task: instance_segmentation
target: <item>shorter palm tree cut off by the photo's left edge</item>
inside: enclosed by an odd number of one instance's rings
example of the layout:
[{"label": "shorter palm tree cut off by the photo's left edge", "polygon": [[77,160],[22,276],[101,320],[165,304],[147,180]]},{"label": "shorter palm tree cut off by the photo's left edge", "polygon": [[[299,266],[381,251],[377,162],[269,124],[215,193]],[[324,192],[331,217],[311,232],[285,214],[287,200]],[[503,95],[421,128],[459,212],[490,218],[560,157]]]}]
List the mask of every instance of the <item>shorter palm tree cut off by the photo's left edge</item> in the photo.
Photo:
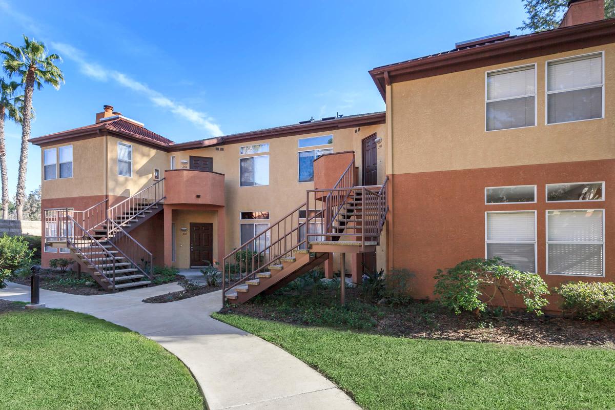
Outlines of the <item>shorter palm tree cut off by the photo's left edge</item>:
[{"label": "shorter palm tree cut off by the photo's left edge", "polygon": [[10,119],[20,124],[22,96],[15,96],[20,84],[6,82],[0,78],[0,176],[2,179],[2,219],[9,219],[9,181],[6,174],[6,146],[4,145],[4,120]]}]

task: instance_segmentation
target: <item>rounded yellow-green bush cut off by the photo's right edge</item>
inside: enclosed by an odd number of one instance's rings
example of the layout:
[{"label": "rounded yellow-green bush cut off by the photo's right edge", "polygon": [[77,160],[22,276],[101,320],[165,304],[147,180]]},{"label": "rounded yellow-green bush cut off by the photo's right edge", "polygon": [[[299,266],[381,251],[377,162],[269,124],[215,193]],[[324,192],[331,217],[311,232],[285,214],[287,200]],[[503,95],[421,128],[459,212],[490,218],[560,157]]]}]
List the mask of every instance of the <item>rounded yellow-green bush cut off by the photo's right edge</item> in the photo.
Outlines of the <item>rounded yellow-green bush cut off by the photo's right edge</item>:
[{"label": "rounded yellow-green bush cut off by the photo's right edge", "polygon": [[569,282],[554,288],[561,310],[583,320],[615,320],[615,283]]}]

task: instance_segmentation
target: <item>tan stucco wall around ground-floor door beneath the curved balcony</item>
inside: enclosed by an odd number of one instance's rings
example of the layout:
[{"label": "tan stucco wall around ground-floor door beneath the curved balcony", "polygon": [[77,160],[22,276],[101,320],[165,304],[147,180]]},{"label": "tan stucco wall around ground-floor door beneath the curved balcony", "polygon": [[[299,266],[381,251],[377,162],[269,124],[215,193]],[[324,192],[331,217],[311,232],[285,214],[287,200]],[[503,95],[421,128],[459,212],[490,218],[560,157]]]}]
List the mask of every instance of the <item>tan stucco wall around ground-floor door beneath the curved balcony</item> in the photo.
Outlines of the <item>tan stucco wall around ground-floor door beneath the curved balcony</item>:
[{"label": "tan stucco wall around ground-floor door beneath the curved balcony", "polygon": [[[175,262],[173,266],[179,269],[188,269],[190,266],[190,223],[213,223],[213,258],[218,256],[218,215],[216,211],[173,210],[173,223],[175,223]],[[187,231],[181,231],[181,228]]]}]

